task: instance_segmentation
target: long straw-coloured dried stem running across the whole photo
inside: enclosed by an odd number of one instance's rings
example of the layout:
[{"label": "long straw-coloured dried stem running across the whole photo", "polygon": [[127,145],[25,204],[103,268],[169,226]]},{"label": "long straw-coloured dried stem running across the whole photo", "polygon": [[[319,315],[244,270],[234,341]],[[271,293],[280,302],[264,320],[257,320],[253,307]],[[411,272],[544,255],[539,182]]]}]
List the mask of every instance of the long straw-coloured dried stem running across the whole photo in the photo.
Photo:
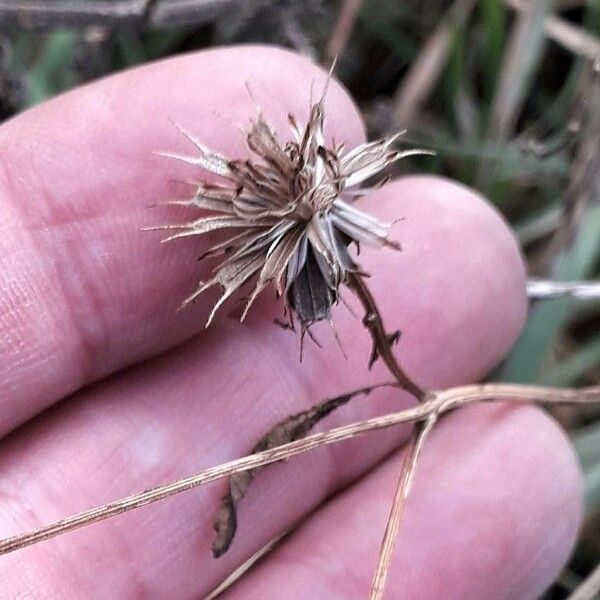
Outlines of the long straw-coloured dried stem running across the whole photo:
[{"label": "long straw-coloured dried stem running across the whole photo", "polygon": [[444,412],[471,404],[492,400],[509,402],[541,402],[541,403],[600,403],[600,386],[576,389],[554,389],[517,384],[483,384],[468,385],[441,392],[431,392],[421,403],[406,410],[388,415],[359,421],[343,427],[337,427],[324,433],[317,433],[289,444],[283,444],[258,454],[245,456],[228,463],[211,467],[200,473],[178,481],[157,486],[150,490],[116,500],[101,507],[67,517],[50,525],[45,525],[24,534],[16,535],[0,541],[0,554],[7,554],[37,542],[53,538],[108,519],[110,517],[135,510],[141,506],[164,500],[200,485],[205,485],[234,473],[256,469],[291,456],[307,452],[326,444],[334,444],[353,438],[367,431],[375,431],[400,425],[401,423],[420,422],[429,418],[432,413],[441,415]]}]

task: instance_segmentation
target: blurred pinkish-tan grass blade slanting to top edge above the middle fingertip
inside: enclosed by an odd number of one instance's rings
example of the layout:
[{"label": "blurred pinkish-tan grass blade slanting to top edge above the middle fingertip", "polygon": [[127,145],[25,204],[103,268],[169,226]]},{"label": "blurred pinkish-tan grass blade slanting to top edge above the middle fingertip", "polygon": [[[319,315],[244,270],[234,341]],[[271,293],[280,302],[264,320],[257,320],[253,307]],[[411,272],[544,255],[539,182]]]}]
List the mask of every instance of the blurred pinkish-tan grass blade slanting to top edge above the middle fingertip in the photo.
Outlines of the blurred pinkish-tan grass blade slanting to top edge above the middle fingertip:
[{"label": "blurred pinkish-tan grass blade slanting to top edge above the middle fingertip", "polygon": [[394,94],[395,126],[409,123],[432,92],[448,59],[453,33],[466,22],[474,6],[474,0],[456,0],[425,43]]}]

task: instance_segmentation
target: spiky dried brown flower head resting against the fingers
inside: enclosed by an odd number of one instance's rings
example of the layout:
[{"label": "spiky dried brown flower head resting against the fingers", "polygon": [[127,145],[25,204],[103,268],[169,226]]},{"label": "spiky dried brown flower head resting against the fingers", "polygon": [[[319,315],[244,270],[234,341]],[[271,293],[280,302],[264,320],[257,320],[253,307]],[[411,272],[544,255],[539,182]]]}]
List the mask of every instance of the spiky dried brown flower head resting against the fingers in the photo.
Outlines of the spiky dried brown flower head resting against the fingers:
[{"label": "spiky dried brown flower head resting against the fingers", "polygon": [[288,116],[292,141],[285,144],[259,113],[247,134],[247,160],[217,154],[181,128],[198,156],[163,154],[223,179],[219,184],[199,184],[191,200],[175,202],[208,210],[209,216],[166,227],[179,230],[167,240],[216,230],[228,234],[203,255],[223,257],[213,276],[186,300],[217,284],[223,288],[207,327],[223,302],[254,279],[241,320],[258,294],[273,285],[284,296],[290,316],[295,313],[305,331],[317,321],[330,319],[347,274],[361,272],[349,250],[352,242],[357,247],[400,248],[388,237],[390,224],[353,204],[365,193],[361,185],[366,180],[396,160],[421,151],[398,152],[393,148],[397,135],[349,151],[343,145],[328,148],[324,99],[325,92],[311,105],[304,127]]}]

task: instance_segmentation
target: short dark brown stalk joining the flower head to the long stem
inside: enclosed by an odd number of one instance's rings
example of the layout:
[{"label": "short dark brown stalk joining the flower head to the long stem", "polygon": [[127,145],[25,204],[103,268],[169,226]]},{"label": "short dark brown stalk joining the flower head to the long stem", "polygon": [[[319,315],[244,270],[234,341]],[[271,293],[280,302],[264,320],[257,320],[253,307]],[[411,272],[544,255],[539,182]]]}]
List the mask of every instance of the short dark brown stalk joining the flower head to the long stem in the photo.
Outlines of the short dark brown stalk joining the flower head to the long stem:
[{"label": "short dark brown stalk joining the flower head to the long stem", "polygon": [[386,332],[377,303],[361,275],[351,273],[348,277],[348,286],[356,294],[356,297],[365,309],[363,323],[369,330],[371,339],[373,340],[373,352],[369,360],[369,367],[372,366],[377,358],[381,357],[381,360],[386,364],[400,386],[417,398],[417,400],[423,401],[427,392],[404,372],[392,352],[392,345],[399,339],[400,332]]}]

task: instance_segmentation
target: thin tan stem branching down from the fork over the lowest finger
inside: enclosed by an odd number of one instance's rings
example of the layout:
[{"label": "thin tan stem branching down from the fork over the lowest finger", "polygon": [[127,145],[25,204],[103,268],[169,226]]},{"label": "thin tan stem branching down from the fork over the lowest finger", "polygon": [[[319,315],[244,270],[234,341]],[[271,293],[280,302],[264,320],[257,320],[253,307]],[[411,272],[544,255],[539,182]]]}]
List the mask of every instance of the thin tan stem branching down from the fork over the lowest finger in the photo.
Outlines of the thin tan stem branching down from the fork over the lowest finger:
[{"label": "thin tan stem branching down from the fork over the lowest finger", "polygon": [[385,527],[383,541],[381,542],[379,560],[377,562],[377,568],[371,585],[371,593],[369,595],[370,600],[382,600],[383,598],[385,581],[390,570],[392,553],[394,551],[396,539],[398,538],[398,531],[402,524],[402,518],[404,517],[406,501],[410,493],[417,461],[419,460],[419,455],[425,444],[425,439],[433,429],[437,419],[437,413],[433,412],[427,417],[426,421],[419,423],[417,429],[413,432],[406,449],[406,456],[402,462],[402,470],[400,472],[400,478],[398,479],[396,493],[394,494],[390,516]]}]

